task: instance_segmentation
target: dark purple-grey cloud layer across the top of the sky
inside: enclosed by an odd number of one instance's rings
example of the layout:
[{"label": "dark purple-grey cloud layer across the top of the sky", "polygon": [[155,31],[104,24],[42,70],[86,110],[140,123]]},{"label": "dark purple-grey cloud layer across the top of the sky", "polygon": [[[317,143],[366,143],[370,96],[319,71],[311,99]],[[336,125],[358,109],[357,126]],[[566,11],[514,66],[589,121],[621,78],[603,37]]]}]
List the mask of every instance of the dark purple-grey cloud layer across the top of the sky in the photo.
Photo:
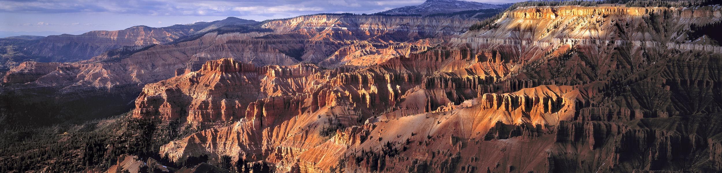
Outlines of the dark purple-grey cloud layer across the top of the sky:
[{"label": "dark purple-grey cloud layer across the top of the sky", "polygon": [[[503,3],[503,1],[495,0],[481,2]],[[321,12],[372,13],[421,3],[423,3],[423,0],[0,0],[0,12],[43,14],[108,12],[165,16],[292,16]]]}]

